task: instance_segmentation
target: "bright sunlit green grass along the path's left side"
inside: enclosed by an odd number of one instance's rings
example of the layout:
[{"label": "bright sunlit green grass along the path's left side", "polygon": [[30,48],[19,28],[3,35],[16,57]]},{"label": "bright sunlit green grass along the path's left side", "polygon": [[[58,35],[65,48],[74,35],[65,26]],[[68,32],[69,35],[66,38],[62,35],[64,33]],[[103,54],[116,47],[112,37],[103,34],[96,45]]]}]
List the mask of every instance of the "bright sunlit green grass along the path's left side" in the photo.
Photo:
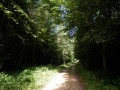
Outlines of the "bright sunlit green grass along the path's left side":
[{"label": "bright sunlit green grass along the path's left side", "polygon": [[0,73],[0,90],[40,90],[57,73],[52,66],[32,67],[22,72]]}]

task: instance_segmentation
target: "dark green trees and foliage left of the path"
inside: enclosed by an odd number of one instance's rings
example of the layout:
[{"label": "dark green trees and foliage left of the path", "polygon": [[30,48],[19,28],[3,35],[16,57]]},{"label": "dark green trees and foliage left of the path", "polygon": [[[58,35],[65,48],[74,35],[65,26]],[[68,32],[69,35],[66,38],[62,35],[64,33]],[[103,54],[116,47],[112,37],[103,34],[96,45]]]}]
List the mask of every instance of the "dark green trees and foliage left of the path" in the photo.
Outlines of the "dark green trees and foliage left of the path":
[{"label": "dark green trees and foliage left of the path", "polygon": [[51,17],[50,10],[54,6],[44,0],[0,3],[0,67],[3,70],[63,62],[52,31],[54,16]]}]

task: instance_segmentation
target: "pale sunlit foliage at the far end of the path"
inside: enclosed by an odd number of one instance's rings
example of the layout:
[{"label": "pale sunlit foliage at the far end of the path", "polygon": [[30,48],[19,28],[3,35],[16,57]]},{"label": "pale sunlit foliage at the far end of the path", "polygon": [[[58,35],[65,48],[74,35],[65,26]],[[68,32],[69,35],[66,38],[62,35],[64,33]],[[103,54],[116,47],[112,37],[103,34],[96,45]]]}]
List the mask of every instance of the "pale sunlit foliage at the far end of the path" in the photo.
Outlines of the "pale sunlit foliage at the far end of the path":
[{"label": "pale sunlit foliage at the far end of the path", "polygon": [[57,26],[57,44],[58,47],[62,50],[64,64],[74,61],[74,39],[69,38],[68,32],[64,31],[65,26],[60,24]]}]

